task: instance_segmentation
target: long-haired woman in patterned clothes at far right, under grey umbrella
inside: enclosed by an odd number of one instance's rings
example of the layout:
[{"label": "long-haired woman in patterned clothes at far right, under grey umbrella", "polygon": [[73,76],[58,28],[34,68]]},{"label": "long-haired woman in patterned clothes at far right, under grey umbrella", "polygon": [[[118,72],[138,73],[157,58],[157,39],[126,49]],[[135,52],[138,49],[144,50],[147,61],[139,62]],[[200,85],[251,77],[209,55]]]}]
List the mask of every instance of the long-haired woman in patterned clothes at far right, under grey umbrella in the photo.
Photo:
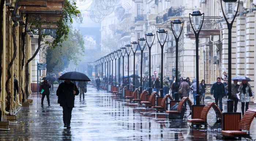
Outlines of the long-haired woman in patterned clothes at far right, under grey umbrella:
[{"label": "long-haired woman in patterned clothes at far right, under grey umbrella", "polygon": [[242,80],[238,88],[238,94],[240,95],[240,102],[241,102],[241,111],[242,115],[244,115],[244,105],[245,111],[249,108],[250,97],[254,98],[254,92],[252,91],[251,85],[248,83],[247,80]]}]

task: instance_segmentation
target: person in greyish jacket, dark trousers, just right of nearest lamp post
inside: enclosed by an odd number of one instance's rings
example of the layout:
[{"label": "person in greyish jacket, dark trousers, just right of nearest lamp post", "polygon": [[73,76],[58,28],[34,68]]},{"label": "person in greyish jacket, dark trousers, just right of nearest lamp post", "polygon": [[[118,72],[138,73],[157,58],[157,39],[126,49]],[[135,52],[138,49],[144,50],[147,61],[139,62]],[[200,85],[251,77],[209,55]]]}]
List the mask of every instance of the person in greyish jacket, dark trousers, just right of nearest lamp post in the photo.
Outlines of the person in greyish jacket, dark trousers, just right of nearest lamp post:
[{"label": "person in greyish jacket, dark trousers, just right of nearest lamp post", "polygon": [[[240,86],[239,84],[237,84],[237,82],[237,79],[233,80],[233,83],[231,84],[231,95],[228,97],[229,99],[232,99],[234,101],[234,112],[237,112],[238,99],[236,94],[238,94],[238,88]],[[228,85],[226,85],[225,89],[228,91]]]}]

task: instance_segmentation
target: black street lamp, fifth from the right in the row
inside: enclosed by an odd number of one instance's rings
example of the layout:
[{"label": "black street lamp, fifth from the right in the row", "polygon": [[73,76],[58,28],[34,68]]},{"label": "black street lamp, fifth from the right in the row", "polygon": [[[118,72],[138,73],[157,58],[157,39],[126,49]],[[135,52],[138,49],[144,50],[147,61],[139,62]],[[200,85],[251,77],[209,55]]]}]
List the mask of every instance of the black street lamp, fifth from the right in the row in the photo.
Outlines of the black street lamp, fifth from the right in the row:
[{"label": "black street lamp, fifth from the right in the row", "polygon": [[[154,38],[153,38],[154,37]],[[155,34],[153,33],[148,33],[146,34],[146,42],[147,42],[147,46],[148,46],[148,79],[149,79],[149,84],[148,84],[148,94],[151,94],[152,92],[152,88],[151,88],[151,47],[153,45],[153,42],[155,40]]]}]

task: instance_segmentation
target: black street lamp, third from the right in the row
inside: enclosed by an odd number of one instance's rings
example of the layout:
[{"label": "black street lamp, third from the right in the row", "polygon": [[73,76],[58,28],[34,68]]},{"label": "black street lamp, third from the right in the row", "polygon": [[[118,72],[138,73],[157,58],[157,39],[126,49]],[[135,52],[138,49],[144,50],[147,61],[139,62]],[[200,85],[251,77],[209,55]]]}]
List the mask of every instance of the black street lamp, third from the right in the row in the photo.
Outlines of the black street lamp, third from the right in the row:
[{"label": "black street lamp, third from the right in the row", "polygon": [[[182,26],[181,26],[181,24],[182,24]],[[176,47],[175,47],[176,48],[176,69],[175,69],[176,80],[178,80],[178,41],[179,41],[182,29],[183,29],[183,25],[184,25],[184,22],[181,22],[179,19],[176,19],[173,22],[171,22],[173,35],[174,35],[175,42],[176,42]],[[178,83],[175,83],[175,84],[176,84],[176,88],[177,88]],[[174,98],[175,98],[175,100],[179,99],[178,92],[174,93]]]}]

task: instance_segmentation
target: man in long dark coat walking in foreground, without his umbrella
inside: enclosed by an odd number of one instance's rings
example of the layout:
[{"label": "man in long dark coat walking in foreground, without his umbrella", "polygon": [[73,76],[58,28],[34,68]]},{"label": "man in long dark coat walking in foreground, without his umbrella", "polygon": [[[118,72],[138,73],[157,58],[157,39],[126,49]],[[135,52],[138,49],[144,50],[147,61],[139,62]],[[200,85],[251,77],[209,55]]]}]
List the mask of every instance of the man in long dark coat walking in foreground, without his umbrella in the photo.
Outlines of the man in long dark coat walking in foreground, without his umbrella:
[{"label": "man in long dark coat walking in foreground, without his umbrella", "polygon": [[64,127],[70,129],[71,113],[75,103],[75,95],[79,94],[78,88],[66,79],[57,89],[58,103],[63,108]]}]

